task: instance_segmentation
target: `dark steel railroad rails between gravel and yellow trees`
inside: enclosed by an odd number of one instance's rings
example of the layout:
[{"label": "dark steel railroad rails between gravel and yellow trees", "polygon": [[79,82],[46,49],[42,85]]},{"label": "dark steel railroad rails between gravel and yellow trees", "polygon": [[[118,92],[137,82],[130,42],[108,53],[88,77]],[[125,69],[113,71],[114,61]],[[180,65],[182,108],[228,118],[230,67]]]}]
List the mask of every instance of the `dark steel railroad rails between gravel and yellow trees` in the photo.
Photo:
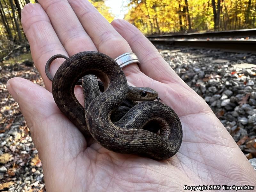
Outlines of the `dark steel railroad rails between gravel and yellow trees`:
[{"label": "dark steel railroad rails between gravel and yellow trees", "polygon": [[[154,35],[148,36],[148,39],[153,44],[221,49],[229,52],[251,52],[252,54],[256,54],[256,38],[246,39],[246,37],[254,36],[256,36],[256,29]],[[238,40],[232,39],[234,37],[239,38]]]}]

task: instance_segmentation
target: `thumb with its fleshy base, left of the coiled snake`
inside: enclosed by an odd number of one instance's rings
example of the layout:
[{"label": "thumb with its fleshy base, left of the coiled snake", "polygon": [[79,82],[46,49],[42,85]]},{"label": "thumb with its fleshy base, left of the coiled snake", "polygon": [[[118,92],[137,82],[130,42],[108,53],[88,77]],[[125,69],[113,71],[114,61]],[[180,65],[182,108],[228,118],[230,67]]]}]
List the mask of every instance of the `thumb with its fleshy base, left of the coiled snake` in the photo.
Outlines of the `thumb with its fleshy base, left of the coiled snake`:
[{"label": "thumb with its fleshy base, left of the coiled snake", "polygon": [[83,135],[60,112],[50,92],[19,77],[10,79],[6,86],[19,103],[43,166],[55,170],[53,165],[60,167],[58,164],[68,160],[67,156],[75,158],[84,150]]}]

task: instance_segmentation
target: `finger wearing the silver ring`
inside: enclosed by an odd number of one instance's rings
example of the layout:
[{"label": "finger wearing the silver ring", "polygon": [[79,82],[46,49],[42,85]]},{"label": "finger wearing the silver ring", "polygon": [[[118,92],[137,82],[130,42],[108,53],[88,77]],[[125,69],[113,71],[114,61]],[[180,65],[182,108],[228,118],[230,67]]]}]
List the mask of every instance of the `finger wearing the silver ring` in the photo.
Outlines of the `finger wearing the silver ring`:
[{"label": "finger wearing the silver ring", "polygon": [[[131,52],[127,41],[109,24],[109,22],[84,0],[68,0],[85,31],[91,37],[99,52],[105,53],[115,59],[119,55]],[[136,64],[124,68],[124,72],[139,73]]]}]

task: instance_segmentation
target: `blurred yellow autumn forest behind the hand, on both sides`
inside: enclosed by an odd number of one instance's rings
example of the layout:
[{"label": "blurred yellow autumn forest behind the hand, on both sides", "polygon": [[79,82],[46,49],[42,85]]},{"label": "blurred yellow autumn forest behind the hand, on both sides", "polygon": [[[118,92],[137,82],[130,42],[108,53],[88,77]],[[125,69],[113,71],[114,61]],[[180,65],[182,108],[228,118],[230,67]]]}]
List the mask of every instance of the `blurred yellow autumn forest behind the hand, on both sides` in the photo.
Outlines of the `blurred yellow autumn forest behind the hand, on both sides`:
[{"label": "blurred yellow autumn forest behind the hand, on both sides", "polygon": [[[256,24],[256,0],[121,1],[126,12],[124,19],[145,35],[244,29]],[[14,50],[29,48],[20,19],[22,8],[30,2],[35,0],[0,0],[0,62]],[[115,19],[106,5],[108,0],[90,2],[109,22]]]}]

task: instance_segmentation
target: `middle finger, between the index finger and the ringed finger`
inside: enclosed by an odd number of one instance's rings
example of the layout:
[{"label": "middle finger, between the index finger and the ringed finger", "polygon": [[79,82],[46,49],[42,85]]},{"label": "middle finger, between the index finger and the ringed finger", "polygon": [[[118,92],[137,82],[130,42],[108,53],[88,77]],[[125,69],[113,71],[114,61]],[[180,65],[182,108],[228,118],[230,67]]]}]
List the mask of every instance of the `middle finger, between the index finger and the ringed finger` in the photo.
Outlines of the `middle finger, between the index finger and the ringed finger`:
[{"label": "middle finger, between the index finger and the ringed finger", "polygon": [[97,51],[67,0],[39,0],[68,54]]}]

